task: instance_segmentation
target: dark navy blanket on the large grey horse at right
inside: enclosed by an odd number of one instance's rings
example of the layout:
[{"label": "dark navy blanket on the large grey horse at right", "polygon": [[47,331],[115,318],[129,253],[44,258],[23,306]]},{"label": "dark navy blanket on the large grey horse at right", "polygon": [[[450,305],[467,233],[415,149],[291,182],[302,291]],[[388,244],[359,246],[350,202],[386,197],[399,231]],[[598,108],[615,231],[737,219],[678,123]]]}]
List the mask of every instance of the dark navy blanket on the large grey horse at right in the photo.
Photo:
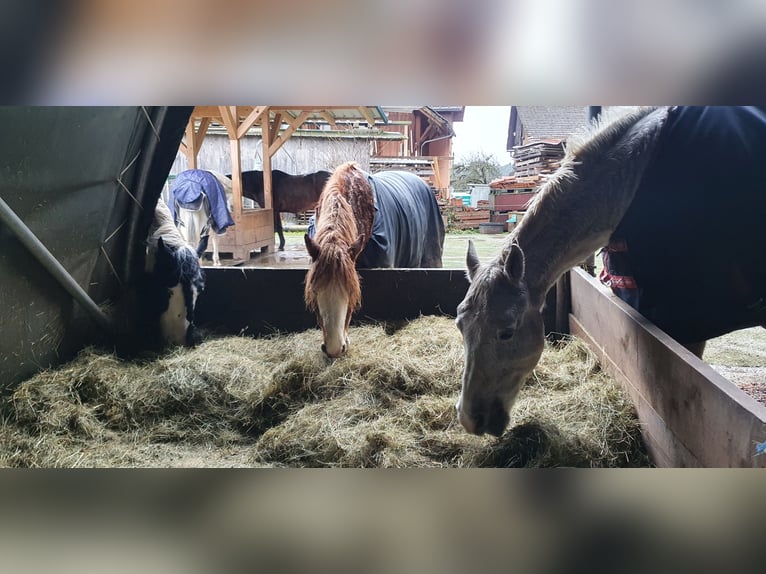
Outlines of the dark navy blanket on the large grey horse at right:
[{"label": "dark navy blanket on the large grey horse at right", "polygon": [[766,109],[675,107],[601,280],[681,343],[766,324]]}]

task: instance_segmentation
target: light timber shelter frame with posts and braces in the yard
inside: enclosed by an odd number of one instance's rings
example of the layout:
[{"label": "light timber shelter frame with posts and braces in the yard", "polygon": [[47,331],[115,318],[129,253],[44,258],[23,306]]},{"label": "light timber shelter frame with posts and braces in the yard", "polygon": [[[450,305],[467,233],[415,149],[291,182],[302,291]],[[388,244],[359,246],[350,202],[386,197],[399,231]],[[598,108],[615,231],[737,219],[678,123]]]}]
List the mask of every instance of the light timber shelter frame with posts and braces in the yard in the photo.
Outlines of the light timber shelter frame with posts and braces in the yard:
[{"label": "light timber shelter frame with posts and braces in the yard", "polygon": [[[181,150],[189,169],[197,169],[197,156],[212,122],[226,128],[231,146],[232,219],[234,226],[219,238],[219,249],[234,259],[249,259],[253,251],[274,250],[274,216],[271,196],[271,158],[305,122],[321,119],[335,127],[340,121],[387,123],[379,106],[197,106],[186,127]],[[242,205],[240,140],[254,126],[261,128],[265,205],[246,209]]]}]

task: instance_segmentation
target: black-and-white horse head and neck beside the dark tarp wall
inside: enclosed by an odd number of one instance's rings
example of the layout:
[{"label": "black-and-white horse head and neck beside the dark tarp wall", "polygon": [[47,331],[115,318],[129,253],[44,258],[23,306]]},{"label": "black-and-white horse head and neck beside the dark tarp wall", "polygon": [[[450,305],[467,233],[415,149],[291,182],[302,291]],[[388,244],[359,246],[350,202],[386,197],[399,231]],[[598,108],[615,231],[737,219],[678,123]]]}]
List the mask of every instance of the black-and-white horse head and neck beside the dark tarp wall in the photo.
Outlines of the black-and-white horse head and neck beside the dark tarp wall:
[{"label": "black-and-white horse head and neck beside the dark tarp wall", "polygon": [[146,273],[139,293],[145,333],[152,338],[158,334],[158,346],[193,345],[194,307],[205,287],[201,253],[186,243],[162,200],[146,243]]}]

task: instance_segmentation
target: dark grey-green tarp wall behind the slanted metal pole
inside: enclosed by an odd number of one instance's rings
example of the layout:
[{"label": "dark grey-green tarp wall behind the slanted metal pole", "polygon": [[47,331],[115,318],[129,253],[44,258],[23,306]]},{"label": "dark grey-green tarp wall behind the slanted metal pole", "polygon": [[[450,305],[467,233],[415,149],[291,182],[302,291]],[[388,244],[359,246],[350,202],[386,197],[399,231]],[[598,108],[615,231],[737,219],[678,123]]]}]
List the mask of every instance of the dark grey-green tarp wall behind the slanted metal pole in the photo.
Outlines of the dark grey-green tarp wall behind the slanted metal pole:
[{"label": "dark grey-green tarp wall behind the slanted metal pole", "polygon": [[[141,272],[192,108],[0,108],[0,197],[99,305]],[[0,389],[101,333],[0,224]]]}]

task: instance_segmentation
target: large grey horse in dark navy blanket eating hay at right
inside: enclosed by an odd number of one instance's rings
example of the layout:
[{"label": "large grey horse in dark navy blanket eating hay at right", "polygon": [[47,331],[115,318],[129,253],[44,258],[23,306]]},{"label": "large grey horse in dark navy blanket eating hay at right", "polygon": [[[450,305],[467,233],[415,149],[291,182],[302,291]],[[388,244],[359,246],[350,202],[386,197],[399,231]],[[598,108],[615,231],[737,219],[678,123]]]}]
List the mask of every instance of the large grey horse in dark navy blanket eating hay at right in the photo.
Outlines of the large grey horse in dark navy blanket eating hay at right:
[{"label": "large grey horse in dark navy blanket eating hay at right", "polygon": [[706,339],[766,323],[764,152],[754,108],[641,109],[572,141],[500,255],[480,265],[469,244],[456,320],[465,429],[503,433],[543,350],[546,293],[610,241],[637,288],[630,303],[698,356]]}]

